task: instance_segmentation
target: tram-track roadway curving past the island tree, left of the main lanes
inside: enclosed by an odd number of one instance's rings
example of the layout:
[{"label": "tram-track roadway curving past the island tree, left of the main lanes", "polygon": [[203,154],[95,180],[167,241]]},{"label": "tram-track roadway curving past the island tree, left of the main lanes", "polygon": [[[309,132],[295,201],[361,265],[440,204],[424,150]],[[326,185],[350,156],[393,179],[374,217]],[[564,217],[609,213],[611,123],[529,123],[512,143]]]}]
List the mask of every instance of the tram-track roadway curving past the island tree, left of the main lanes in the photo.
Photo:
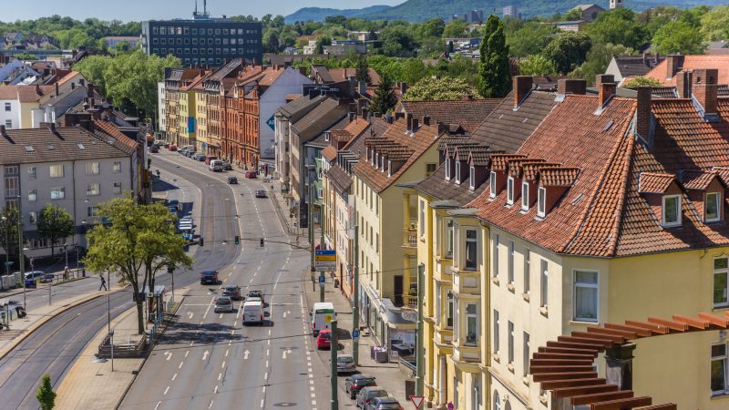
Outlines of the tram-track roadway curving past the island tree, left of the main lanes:
[{"label": "tram-track roadway curving past the island tree, left of the main lanes", "polygon": [[[164,164],[159,165],[159,168],[164,169]],[[230,200],[230,188],[224,184],[210,183],[209,179],[198,179],[196,183],[192,183],[174,176],[174,169],[174,166],[169,166],[169,172],[166,172],[168,175],[162,175],[163,181],[170,184],[168,188],[172,188],[169,190],[169,198],[176,198],[187,204],[186,210],[191,210],[196,218],[198,231],[204,232],[207,237],[212,238],[214,235],[219,239],[232,239],[237,228],[234,224],[227,223],[225,218],[235,212]],[[201,210],[209,217],[221,218],[200,218]],[[239,251],[231,242],[223,244],[221,241],[206,241],[204,248],[190,247],[197,262],[189,272],[175,272],[176,286],[197,282],[201,270],[221,269],[231,263]],[[164,273],[159,276],[157,283],[169,286],[170,280],[170,275]],[[77,293],[87,288],[93,292],[98,289],[98,279],[82,282],[84,283],[69,285],[67,292]],[[41,291],[34,292],[31,296],[32,302],[28,303],[29,307],[32,309],[31,303],[42,302],[43,296]],[[47,293],[45,296],[47,298]],[[13,353],[0,361],[0,409],[37,408],[35,395],[42,375],[50,374],[54,385],[60,384],[87,343],[107,325],[108,308],[113,318],[131,306],[130,291],[115,292],[109,298],[109,305],[107,298],[100,298],[78,305],[44,324],[20,343]],[[86,359],[88,358],[84,358]]]}]

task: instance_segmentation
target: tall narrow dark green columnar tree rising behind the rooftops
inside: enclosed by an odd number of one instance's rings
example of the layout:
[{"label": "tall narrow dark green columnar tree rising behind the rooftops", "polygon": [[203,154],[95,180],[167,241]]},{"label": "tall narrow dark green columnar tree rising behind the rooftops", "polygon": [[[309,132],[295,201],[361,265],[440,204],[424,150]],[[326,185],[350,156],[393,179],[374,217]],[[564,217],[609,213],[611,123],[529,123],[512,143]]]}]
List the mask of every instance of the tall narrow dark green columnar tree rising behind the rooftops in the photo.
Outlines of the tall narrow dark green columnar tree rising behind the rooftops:
[{"label": "tall narrow dark green columnar tree rising behind the rooftops", "polygon": [[508,69],[508,46],[504,36],[504,24],[496,15],[488,16],[481,41],[480,94],[487,98],[506,97],[511,91],[511,74]]}]

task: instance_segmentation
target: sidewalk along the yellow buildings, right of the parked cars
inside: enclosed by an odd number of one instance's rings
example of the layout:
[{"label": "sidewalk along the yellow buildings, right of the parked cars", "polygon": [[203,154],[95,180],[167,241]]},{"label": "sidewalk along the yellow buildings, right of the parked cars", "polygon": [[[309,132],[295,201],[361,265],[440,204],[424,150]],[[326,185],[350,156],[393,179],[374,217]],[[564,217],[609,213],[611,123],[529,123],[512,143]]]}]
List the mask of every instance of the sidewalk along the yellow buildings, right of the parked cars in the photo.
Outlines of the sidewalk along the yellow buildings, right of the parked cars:
[{"label": "sidewalk along the yellow buildings, right of the parked cars", "polygon": [[[311,306],[314,302],[319,302],[319,285],[313,284],[310,280],[310,272],[307,269],[303,272],[304,287],[306,290],[306,302],[307,306],[304,306],[307,311],[311,311]],[[318,276],[318,273],[316,273]],[[326,302],[334,303],[334,311],[337,316],[337,326],[339,328],[339,343],[344,345],[341,348],[340,354],[352,354],[352,328],[353,328],[353,313],[352,306],[349,300],[347,300],[339,289],[334,289],[334,284],[327,276],[327,282],[324,287],[324,299]],[[362,320],[360,320],[362,323]],[[344,336],[346,334],[346,336]],[[398,364],[395,363],[377,363],[370,356],[370,347],[376,346],[377,344],[370,336],[365,336],[363,333],[359,338],[359,365],[357,369],[363,374],[374,375],[377,379],[377,385],[384,387],[389,395],[394,396],[400,405],[405,408],[410,400],[406,397],[405,392],[405,375],[399,370]],[[323,357],[326,355],[326,357]],[[329,360],[329,352],[320,352],[320,357],[323,357],[327,362]],[[339,377],[340,385],[344,386],[344,377]],[[343,387],[344,388],[344,387]],[[348,396],[342,395],[340,392],[339,396],[340,405],[354,405],[354,400],[350,400]]]}]

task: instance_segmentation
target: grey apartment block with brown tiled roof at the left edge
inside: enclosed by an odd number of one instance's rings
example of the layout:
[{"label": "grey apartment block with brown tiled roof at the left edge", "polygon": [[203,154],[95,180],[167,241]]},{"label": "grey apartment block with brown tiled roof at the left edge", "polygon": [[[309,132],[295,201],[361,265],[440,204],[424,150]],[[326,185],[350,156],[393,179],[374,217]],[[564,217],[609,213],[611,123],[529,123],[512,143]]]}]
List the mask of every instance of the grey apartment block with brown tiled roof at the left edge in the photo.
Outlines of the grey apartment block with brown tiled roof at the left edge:
[{"label": "grey apartment block with brown tiled roof at the left edge", "polygon": [[67,210],[75,224],[72,241],[85,246],[87,228],[100,222],[98,205],[137,194],[137,142],[95,123],[24,129],[0,125],[5,175],[0,200],[5,206],[17,206],[20,200],[30,255],[45,255],[50,248],[36,232],[38,215],[47,204]]}]

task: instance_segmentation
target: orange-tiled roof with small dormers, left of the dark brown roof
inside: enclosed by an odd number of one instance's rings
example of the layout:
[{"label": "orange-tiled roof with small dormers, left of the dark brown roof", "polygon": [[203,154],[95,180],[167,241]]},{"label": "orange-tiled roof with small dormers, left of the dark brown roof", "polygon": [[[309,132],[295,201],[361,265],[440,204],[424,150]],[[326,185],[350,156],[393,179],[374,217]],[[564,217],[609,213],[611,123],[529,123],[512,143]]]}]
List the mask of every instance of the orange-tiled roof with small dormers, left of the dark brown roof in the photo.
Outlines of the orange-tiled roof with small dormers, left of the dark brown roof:
[{"label": "orange-tiled roof with small dormers, left of the dark brown roof", "polygon": [[[364,144],[375,151],[385,154],[388,159],[402,161],[399,169],[394,169],[392,175],[367,162],[360,160],[354,165],[353,172],[364,179],[377,192],[389,188],[400,178],[407,169],[419,159],[427,149],[437,143],[438,130],[436,126],[421,126],[416,132],[407,132],[405,118],[396,120],[390,128],[380,137],[365,137]],[[363,155],[360,153],[360,158]]]}]

